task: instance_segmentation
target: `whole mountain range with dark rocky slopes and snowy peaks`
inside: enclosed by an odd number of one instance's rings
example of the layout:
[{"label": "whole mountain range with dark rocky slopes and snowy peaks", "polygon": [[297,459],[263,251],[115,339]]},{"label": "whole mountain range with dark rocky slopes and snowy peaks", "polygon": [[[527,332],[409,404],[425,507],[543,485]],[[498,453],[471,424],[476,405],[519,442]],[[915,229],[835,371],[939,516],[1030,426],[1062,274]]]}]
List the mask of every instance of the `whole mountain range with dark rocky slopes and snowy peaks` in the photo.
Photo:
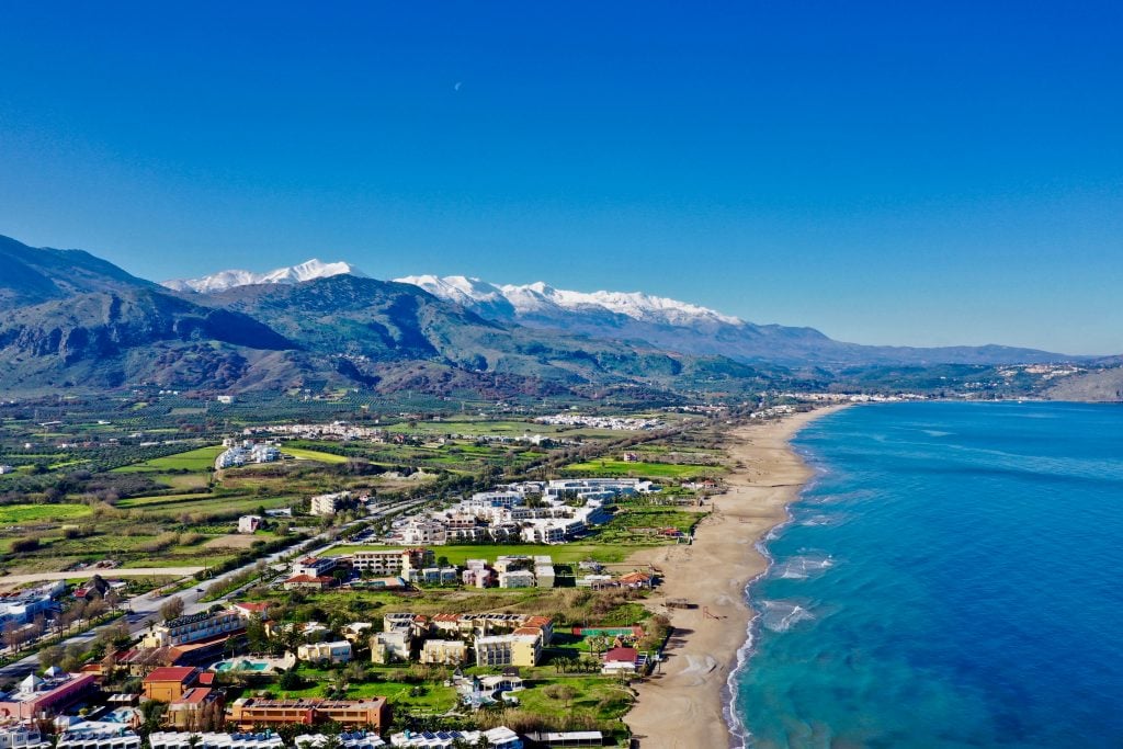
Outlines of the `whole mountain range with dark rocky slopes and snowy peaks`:
[{"label": "whole mountain range with dark rocky slopes and snowy peaks", "polygon": [[1001,346],[859,346],[642,293],[380,281],[347,263],[156,284],[82,250],[0,237],[0,389],[10,392],[148,383],[668,402],[939,383],[944,373],[1062,358]]}]

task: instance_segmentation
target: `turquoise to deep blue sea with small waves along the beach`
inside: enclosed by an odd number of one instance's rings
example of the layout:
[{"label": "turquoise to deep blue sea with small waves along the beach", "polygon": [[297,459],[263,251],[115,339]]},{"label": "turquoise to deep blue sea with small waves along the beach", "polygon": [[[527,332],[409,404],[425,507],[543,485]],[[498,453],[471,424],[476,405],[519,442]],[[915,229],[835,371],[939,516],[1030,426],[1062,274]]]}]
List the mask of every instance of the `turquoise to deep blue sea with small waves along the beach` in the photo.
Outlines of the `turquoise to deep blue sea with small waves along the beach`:
[{"label": "turquoise to deep blue sea with small waves along the beach", "polygon": [[1123,747],[1123,407],[864,405],[764,542],[752,747]]}]

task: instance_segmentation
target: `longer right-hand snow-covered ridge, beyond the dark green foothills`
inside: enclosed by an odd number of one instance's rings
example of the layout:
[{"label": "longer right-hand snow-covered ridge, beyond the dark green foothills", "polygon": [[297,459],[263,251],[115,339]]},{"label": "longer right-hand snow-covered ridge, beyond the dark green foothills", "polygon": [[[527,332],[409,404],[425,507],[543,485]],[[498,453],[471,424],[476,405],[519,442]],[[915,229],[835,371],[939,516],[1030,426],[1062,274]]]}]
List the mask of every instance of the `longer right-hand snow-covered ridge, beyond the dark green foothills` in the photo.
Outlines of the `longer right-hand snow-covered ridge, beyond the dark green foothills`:
[{"label": "longer right-hand snow-covered ridge, beyond the dark green foothills", "polygon": [[566,291],[542,282],[526,285],[493,284],[465,276],[433,275],[395,278],[424,289],[433,296],[456,302],[485,317],[508,317],[515,320],[556,319],[582,316],[623,316],[640,322],[669,326],[704,323],[742,326],[738,318],[714,310],[642,292]]}]

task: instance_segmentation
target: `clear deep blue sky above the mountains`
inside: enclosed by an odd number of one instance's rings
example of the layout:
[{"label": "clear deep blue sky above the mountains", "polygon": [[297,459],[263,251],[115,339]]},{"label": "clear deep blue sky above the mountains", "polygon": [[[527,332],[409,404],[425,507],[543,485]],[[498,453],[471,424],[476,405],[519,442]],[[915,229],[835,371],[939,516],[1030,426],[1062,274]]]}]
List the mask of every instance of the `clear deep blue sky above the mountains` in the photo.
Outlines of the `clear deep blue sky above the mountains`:
[{"label": "clear deep blue sky above the mountains", "polygon": [[2,3],[0,234],[1119,353],[1121,81],[1117,2]]}]

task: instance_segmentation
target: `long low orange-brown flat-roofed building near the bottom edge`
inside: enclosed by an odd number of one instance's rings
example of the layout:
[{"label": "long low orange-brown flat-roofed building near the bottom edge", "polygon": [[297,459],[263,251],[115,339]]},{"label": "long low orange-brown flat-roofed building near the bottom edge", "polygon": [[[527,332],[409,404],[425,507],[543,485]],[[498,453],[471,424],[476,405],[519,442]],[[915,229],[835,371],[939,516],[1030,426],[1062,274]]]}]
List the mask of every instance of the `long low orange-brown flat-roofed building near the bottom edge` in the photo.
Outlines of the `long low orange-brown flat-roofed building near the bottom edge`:
[{"label": "long low orange-brown flat-roofed building near the bottom edge", "polygon": [[366,700],[240,697],[230,705],[228,721],[246,729],[258,725],[339,723],[382,732],[390,724],[390,705],[384,697]]}]

